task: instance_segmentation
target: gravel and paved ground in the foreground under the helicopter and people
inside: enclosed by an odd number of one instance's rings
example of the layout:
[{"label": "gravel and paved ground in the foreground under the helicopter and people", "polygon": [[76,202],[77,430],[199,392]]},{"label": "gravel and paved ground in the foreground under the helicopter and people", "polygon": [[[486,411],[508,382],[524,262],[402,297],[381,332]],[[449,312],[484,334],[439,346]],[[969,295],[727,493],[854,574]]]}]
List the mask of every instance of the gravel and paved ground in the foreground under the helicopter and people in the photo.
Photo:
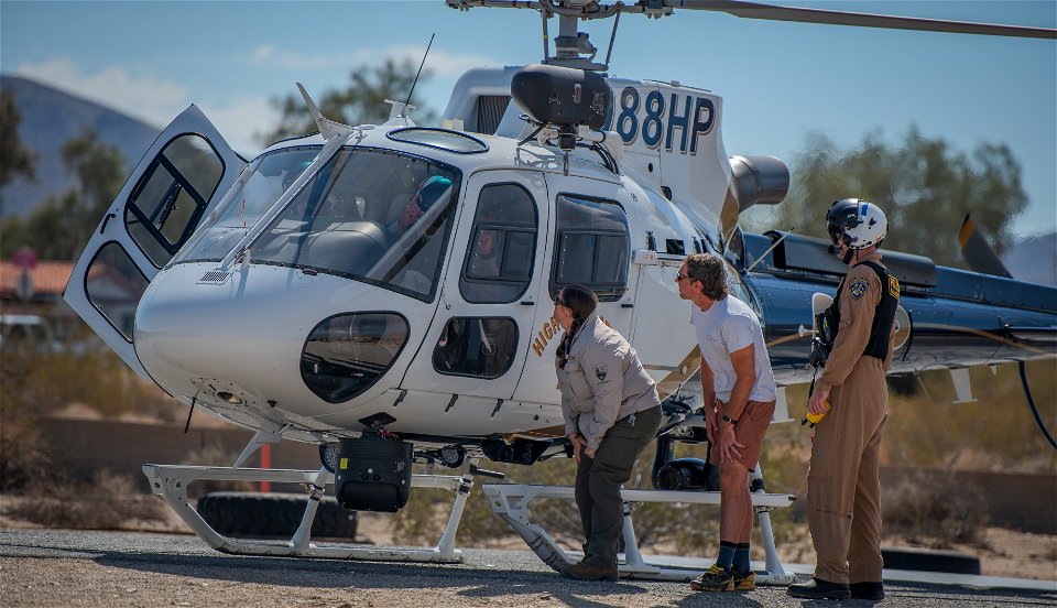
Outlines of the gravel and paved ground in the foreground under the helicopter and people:
[{"label": "gravel and paved ground in the foreground under the helicopter and people", "polygon": [[[781,587],[696,594],[673,583],[577,583],[531,552],[465,550],[462,565],[241,557],[194,536],[0,531],[0,606],[800,606]],[[1034,606],[1057,591],[890,584],[884,606]],[[867,601],[821,606],[869,606]]]}]

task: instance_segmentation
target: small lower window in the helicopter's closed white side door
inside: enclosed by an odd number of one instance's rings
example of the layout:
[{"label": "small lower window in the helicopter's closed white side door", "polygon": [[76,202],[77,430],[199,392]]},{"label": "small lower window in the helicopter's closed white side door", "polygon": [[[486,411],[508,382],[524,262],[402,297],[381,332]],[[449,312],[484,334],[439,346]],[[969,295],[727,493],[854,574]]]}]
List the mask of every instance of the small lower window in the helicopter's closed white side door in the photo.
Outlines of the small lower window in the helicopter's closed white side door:
[{"label": "small lower window in the helicopter's closed white side door", "polygon": [[502,317],[456,317],[448,321],[433,351],[439,373],[499,378],[517,352],[517,324]]}]

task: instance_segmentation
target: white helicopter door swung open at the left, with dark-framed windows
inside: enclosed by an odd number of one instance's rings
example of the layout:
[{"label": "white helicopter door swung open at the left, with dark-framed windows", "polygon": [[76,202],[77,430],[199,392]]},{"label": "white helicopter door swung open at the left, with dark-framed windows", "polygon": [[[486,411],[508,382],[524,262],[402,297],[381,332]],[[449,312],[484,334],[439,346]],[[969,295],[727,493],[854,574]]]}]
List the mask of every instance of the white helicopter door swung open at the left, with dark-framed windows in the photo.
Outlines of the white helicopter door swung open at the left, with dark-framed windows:
[{"label": "white helicopter door swung open at the left, with dark-framed windows", "polygon": [[143,378],[132,345],[140,297],[246,164],[188,107],[154,140],[74,267],[67,304]]}]

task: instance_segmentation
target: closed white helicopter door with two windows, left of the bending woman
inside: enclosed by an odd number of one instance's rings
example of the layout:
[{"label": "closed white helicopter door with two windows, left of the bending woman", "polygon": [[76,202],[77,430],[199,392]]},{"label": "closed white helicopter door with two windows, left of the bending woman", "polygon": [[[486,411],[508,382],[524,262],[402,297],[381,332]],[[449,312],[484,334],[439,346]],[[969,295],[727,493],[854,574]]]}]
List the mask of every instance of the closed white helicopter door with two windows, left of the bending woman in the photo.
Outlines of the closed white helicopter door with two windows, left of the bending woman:
[{"label": "closed white helicopter door with two windows, left of the bending woman", "polygon": [[[443,405],[437,433],[450,435],[510,428],[517,414],[506,402],[526,355],[533,356],[534,326],[551,318],[551,302],[536,301],[540,284],[546,283],[548,247],[543,175],[477,172],[467,180],[464,209],[439,310],[401,384],[408,391],[404,402],[427,399]],[[437,387],[444,387],[443,394]],[[532,427],[532,414],[524,417],[524,426]]]}]

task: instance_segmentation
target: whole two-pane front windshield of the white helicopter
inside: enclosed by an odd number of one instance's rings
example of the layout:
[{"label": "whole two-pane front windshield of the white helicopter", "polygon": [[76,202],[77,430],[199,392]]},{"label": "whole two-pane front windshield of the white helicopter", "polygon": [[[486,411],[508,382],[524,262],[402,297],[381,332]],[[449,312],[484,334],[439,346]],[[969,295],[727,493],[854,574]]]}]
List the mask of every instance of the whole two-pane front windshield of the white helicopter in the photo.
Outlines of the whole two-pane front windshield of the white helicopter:
[{"label": "whole two-pane front windshield of the white helicopter", "polygon": [[[319,152],[317,145],[285,148],[251,163],[226,206],[173,263],[221,260]],[[460,180],[458,169],[423,156],[344,146],[250,245],[251,259],[429,301]]]}]

